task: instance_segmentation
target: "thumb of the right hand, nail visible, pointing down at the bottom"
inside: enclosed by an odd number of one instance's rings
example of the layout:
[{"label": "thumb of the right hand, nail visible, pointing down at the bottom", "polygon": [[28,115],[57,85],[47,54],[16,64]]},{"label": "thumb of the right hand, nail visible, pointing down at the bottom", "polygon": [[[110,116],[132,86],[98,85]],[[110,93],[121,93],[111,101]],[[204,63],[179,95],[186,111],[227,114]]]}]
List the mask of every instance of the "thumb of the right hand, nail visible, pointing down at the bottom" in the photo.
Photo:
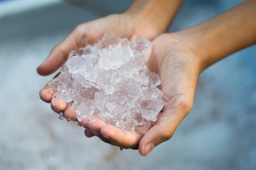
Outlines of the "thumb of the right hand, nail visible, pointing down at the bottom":
[{"label": "thumb of the right hand, nail visible, pointing down at the bottom", "polygon": [[167,109],[162,113],[157,124],[153,126],[139,142],[139,153],[148,155],[157,145],[168,141],[174,134],[178,125],[184,119],[181,109]]}]

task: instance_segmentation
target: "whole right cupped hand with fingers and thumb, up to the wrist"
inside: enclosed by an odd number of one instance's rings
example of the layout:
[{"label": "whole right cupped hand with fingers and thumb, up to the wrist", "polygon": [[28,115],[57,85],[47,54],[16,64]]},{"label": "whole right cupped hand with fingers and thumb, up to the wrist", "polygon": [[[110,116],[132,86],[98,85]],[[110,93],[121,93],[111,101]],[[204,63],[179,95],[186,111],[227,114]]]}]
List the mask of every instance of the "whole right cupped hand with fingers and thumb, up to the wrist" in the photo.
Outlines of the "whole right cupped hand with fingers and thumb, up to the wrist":
[{"label": "whole right cupped hand with fingers and thumb, up to the wrist", "polygon": [[162,81],[160,89],[170,99],[157,116],[157,121],[151,122],[148,132],[143,133],[142,126],[130,132],[106,125],[102,120],[86,118],[82,125],[86,128],[87,137],[96,135],[111,145],[139,149],[139,153],[146,156],[155,146],[169,140],[191,111],[200,72],[199,59],[188,44],[181,38],[175,38],[174,34],[163,34],[152,44],[153,51],[146,64],[159,74]]}]

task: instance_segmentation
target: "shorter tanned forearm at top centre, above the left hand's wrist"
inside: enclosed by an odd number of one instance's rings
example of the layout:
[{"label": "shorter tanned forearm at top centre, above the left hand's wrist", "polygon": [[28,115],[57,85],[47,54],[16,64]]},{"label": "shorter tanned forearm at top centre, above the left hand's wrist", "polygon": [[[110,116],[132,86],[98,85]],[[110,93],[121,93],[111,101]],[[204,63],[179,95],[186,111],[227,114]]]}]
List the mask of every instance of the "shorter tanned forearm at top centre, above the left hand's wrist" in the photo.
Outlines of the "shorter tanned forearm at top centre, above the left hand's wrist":
[{"label": "shorter tanned forearm at top centre, above the left hand's wrist", "polygon": [[135,0],[125,14],[133,15],[137,29],[160,35],[168,29],[184,0]]}]

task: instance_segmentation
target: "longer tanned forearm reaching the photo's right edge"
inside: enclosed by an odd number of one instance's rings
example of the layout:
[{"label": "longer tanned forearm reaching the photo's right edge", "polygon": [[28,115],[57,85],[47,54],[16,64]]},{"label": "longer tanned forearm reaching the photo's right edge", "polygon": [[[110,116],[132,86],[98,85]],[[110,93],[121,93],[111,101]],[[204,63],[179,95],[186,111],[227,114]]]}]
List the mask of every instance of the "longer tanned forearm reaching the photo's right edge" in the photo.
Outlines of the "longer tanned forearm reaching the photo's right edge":
[{"label": "longer tanned forearm reaching the photo's right edge", "polygon": [[208,21],[177,32],[201,61],[201,72],[222,58],[256,43],[256,0],[241,3]]}]

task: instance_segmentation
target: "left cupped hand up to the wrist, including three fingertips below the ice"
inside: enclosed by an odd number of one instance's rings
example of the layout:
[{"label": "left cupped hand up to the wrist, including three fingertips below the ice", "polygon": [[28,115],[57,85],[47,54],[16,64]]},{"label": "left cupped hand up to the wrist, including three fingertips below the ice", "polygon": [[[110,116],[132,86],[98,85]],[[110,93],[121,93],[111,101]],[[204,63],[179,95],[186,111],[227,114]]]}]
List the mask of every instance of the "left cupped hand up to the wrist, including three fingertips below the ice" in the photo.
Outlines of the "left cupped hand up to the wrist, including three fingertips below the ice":
[{"label": "left cupped hand up to the wrist, including three fingertips below the ice", "polygon": [[[149,40],[154,39],[159,33],[152,29],[144,28],[136,15],[113,14],[101,19],[78,25],[71,34],[51,50],[48,58],[37,68],[40,75],[49,75],[61,67],[67,60],[71,50],[85,47],[87,44],[97,43],[105,34],[114,34],[121,38],[131,38],[139,34]],[[52,109],[63,112],[66,119],[76,119],[75,108],[68,107],[60,98],[52,98],[57,89],[49,88],[48,84],[40,90],[40,98],[45,102],[51,102]]]}]

